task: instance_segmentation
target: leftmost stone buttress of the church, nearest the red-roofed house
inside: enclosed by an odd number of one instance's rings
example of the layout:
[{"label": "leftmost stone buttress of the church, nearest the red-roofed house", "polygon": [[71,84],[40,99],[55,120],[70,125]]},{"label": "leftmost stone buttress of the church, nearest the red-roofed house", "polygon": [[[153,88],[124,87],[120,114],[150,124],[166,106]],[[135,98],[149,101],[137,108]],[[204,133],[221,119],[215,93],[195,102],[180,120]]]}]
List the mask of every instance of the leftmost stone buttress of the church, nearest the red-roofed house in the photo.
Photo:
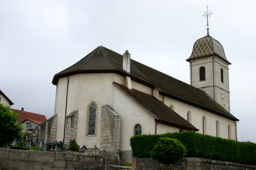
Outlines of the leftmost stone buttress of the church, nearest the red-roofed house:
[{"label": "leftmost stone buttress of the church, nearest the red-roofed house", "polygon": [[39,140],[43,139],[45,143],[56,141],[58,113],[40,124]]}]

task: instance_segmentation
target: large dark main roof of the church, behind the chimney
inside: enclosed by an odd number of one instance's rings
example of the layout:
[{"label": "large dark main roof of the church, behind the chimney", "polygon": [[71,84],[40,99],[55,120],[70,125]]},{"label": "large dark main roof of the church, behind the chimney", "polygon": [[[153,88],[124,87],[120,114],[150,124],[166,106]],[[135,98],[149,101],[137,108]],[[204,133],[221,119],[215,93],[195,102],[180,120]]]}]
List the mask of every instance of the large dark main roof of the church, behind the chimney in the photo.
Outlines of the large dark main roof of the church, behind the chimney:
[{"label": "large dark main roof of the church, behind the chimney", "polygon": [[78,73],[115,72],[123,76],[128,75],[132,80],[149,87],[157,87],[162,95],[232,120],[238,120],[202,90],[135,60],[131,60],[130,63],[130,73],[127,73],[122,70],[123,55],[99,46],[77,63],[55,74],[52,83],[57,85],[59,78]]}]

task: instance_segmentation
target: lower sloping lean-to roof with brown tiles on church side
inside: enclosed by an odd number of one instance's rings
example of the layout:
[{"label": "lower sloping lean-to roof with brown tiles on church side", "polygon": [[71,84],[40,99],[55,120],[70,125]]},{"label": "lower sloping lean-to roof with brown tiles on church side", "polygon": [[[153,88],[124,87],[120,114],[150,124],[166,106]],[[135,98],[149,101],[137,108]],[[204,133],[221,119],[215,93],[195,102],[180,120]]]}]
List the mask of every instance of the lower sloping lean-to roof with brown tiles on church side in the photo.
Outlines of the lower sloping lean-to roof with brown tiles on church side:
[{"label": "lower sloping lean-to roof with brown tiles on church side", "polygon": [[113,84],[132,98],[135,102],[137,102],[140,106],[142,106],[146,111],[152,114],[157,120],[168,122],[173,126],[182,126],[188,130],[199,130],[170,107],[166,106],[153,96],[142,93],[135,89],[130,91],[124,85],[115,82]]}]

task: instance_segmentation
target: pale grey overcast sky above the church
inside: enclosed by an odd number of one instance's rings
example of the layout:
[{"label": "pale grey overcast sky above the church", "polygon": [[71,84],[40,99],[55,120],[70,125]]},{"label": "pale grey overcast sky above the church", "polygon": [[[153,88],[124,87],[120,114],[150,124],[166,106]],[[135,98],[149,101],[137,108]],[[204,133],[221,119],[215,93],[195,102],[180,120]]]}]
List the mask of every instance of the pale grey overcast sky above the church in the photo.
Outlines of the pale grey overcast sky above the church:
[{"label": "pale grey overcast sky above the church", "polygon": [[0,89],[12,108],[54,115],[53,76],[102,45],[190,83],[194,42],[209,34],[229,65],[238,141],[256,143],[256,1],[0,0]]}]

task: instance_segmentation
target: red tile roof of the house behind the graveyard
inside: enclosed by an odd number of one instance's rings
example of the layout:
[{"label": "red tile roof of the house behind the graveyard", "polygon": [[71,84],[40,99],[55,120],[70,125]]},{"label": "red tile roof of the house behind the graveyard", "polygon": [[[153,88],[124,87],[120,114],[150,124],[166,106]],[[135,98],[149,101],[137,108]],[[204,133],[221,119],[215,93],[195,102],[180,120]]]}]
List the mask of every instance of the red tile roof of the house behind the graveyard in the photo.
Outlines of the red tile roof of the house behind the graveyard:
[{"label": "red tile roof of the house behind the graveyard", "polygon": [[12,112],[19,114],[19,119],[18,119],[19,123],[22,123],[25,120],[30,120],[39,125],[44,121],[46,121],[45,115],[42,115],[42,114],[36,114],[36,113],[31,113],[28,111],[22,111],[17,109],[12,109]]}]

